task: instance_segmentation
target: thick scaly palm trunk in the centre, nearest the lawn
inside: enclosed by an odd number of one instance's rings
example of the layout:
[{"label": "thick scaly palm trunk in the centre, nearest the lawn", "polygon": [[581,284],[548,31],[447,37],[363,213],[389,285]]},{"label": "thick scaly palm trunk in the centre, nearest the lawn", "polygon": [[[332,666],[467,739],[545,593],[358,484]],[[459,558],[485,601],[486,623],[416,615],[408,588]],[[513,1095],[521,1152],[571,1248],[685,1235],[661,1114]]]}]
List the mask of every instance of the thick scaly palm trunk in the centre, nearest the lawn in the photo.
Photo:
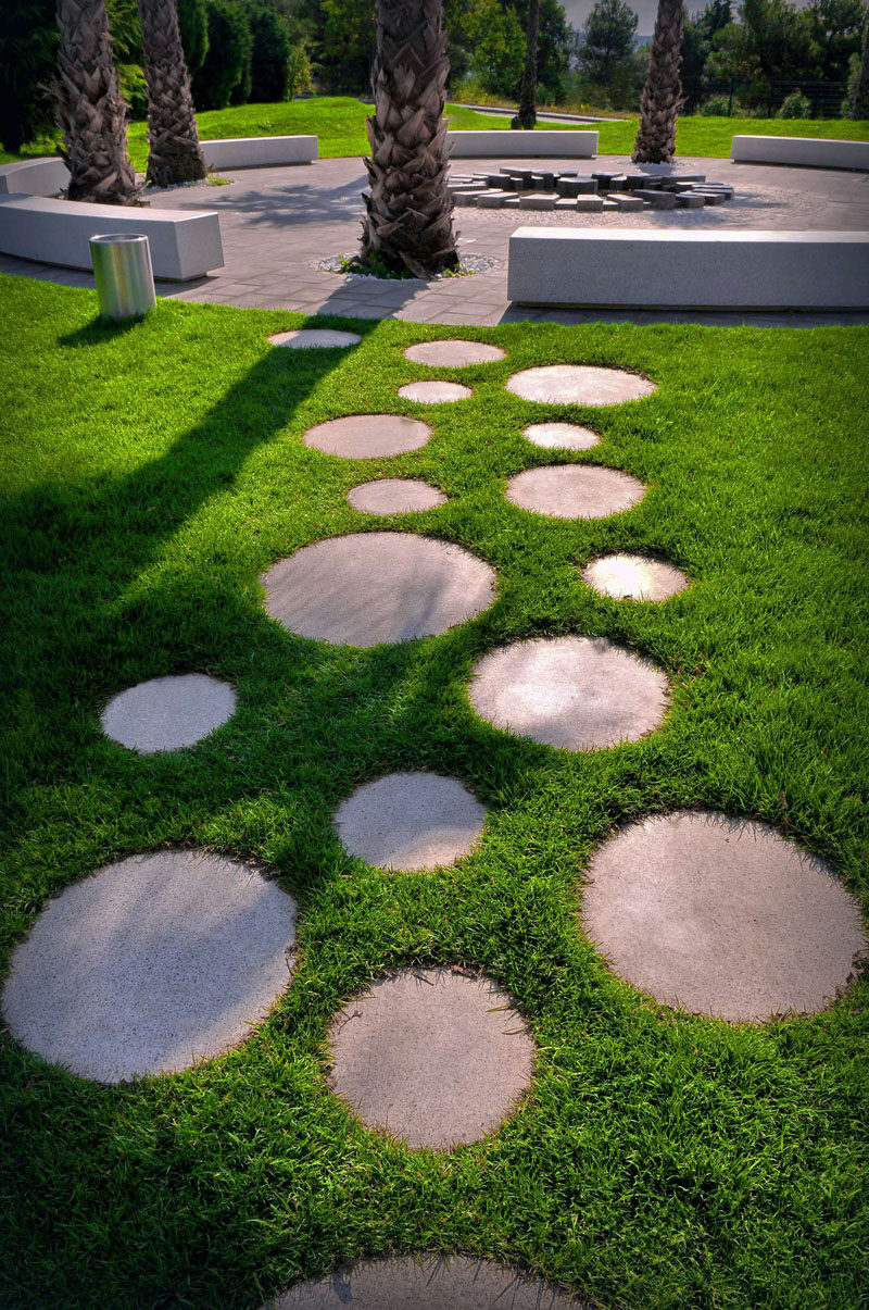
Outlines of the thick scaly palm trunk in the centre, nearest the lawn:
[{"label": "thick scaly palm trunk in the centre, nearest the lawn", "polygon": [[363,259],[377,255],[416,278],[458,265],[446,190],[448,72],[442,0],[377,0]]}]

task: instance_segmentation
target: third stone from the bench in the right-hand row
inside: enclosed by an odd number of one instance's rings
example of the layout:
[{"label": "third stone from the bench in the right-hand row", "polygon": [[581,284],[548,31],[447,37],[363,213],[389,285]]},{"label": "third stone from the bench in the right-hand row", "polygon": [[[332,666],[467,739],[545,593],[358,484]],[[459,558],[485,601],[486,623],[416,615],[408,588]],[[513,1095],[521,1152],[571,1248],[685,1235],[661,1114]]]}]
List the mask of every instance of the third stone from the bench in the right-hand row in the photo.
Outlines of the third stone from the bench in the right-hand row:
[{"label": "third stone from the bench in the right-hand row", "polygon": [[606,519],[639,504],[645,487],[628,473],[590,464],[526,469],[506,483],[506,499],[551,519]]}]

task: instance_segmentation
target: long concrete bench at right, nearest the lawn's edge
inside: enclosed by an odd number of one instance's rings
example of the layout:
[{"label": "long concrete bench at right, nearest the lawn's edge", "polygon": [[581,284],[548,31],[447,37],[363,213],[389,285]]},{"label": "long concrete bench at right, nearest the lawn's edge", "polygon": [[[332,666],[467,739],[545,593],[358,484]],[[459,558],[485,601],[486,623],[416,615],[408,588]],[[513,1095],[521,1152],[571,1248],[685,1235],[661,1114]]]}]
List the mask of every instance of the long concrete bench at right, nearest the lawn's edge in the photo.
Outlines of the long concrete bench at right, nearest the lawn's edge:
[{"label": "long concrete bench at right, nearest the lawn's edge", "polygon": [[869,308],[869,232],[518,228],[508,296],[644,309]]}]

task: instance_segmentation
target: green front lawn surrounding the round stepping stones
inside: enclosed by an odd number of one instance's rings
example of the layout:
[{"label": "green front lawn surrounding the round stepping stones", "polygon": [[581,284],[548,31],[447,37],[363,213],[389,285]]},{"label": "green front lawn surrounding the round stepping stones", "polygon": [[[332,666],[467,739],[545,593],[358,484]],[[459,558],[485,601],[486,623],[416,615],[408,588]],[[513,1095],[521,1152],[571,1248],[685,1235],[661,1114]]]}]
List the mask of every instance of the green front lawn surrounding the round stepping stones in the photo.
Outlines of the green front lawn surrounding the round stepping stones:
[{"label": "green front lawn surrounding the round stepping stones", "polygon": [[[357,324],[353,352],[272,351],[300,316],[162,301],[131,330],[94,297],[1,279],[8,494],[0,536],[9,719],[0,946],[118,855],[198,842],[276,867],[302,907],[304,968],[239,1051],[101,1087],[0,1038],[5,1162],[0,1301],[42,1310],[253,1307],[339,1256],[466,1247],[616,1307],[856,1310],[869,1246],[866,984],[810,1020],[728,1027],[622,985],[577,934],[581,867],[610,827],[674,806],[777,824],[866,886],[869,700],[860,557],[865,329],[504,326],[466,369],[474,398],[398,402],[411,341]],[[504,389],[517,367],[627,365],[636,405],[577,409],[582,462],[649,493],[565,523],[504,499],[521,468],[569,456],[520,435],[563,418]],[[436,375],[440,376],[440,375]],[[400,410],[434,427],[393,460],[301,444],[332,415]],[[568,411],[571,414],[571,411]],[[344,493],[411,474],[442,508],[364,519]],[[257,578],[304,542],[394,527],[462,542],[497,599],[440,638],[373,651],[293,638]],[[692,588],[660,605],[586,590],[577,565],[662,552]],[[673,710],[649,739],[572,756],[470,710],[500,642],[603,634],[661,662]],[[204,669],[239,690],[213,740],[136,757],[99,734],[114,692]],[[432,876],[347,858],[338,800],[391,769],[458,776],[491,810],[482,849]],[[470,960],[518,998],[541,1044],[529,1107],[445,1158],[363,1131],[325,1091],[323,1035],[387,964]],[[1,967],[1,965],[0,965]]]}]

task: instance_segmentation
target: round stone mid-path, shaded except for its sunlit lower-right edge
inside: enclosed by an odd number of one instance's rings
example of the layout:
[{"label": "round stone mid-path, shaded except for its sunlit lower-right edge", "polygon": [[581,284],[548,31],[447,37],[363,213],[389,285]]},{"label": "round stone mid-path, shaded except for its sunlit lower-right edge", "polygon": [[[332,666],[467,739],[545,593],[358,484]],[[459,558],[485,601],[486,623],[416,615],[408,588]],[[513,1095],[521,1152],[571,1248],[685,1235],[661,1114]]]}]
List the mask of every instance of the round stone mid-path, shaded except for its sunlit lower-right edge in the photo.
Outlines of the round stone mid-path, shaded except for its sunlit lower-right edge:
[{"label": "round stone mid-path, shaded except for its sunlit lower-right edge", "polygon": [[343,800],[335,827],[351,855],[377,869],[438,869],[476,845],[486,810],[455,778],[390,773]]}]

